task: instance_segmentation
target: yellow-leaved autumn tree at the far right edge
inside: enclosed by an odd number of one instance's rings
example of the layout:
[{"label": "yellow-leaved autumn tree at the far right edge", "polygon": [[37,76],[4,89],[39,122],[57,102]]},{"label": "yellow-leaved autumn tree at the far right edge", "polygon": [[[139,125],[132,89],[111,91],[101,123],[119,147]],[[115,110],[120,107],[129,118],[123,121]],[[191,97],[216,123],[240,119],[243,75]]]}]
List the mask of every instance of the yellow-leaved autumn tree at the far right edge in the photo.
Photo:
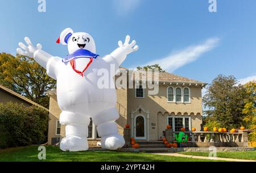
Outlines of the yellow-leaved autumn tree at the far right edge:
[{"label": "yellow-leaved autumn tree at the far right edge", "polygon": [[245,107],[242,110],[246,115],[243,120],[246,128],[254,130],[254,132],[249,133],[249,140],[256,141],[256,82],[246,83],[245,88],[248,97],[245,99]]}]

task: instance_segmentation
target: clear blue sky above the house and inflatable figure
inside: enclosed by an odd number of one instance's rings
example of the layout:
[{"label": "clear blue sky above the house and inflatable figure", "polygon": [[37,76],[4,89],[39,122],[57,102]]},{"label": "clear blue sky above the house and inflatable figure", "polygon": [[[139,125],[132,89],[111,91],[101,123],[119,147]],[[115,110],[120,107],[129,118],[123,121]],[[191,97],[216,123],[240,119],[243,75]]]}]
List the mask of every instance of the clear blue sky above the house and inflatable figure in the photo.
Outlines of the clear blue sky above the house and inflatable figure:
[{"label": "clear blue sky above the house and inflatable figure", "polygon": [[256,1],[217,0],[37,0],[0,3],[0,52],[16,53],[25,36],[43,50],[64,57],[66,46],[55,43],[60,32],[72,28],[94,37],[104,56],[129,34],[138,52],[122,66],[158,63],[167,71],[210,82],[218,74],[245,82],[256,79]]}]

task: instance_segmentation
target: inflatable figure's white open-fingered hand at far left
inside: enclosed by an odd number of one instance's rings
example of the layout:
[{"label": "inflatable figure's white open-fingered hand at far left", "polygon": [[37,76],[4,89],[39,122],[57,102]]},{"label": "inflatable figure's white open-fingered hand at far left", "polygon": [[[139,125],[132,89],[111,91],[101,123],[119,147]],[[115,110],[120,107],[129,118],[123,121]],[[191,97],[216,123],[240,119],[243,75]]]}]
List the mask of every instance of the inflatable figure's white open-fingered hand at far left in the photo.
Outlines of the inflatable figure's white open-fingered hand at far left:
[{"label": "inflatable figure's white open-fingered hand at far left", "polygon": [[34,53],[36,52],[36,50],[41,50],[42,45],[37,44],[35,47],[34,45],[32,45],[32,43],[28,37],[25,37],[24,40],[26,41],[27,46],[20,42],[19,47],[22,48],[23,50],[18,48],[18,49],[16,49],[17,53],[22,54],[23,56],[28,56],[28,57],[34,58]]}]

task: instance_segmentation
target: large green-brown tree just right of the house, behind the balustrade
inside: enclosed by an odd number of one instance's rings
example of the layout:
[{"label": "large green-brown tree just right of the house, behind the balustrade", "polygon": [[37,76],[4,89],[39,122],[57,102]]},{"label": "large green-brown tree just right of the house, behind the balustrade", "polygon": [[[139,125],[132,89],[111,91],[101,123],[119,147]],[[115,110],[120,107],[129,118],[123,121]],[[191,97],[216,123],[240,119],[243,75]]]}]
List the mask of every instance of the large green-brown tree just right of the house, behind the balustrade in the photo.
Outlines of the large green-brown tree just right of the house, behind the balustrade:
[{"label": "large green-brown tree just right of the house, behind the balustrade", "polygon": [[216,121],[225,128],[238,128],[243,124],[242,109],[247,94],[242,85],[238,85],[233,76],[218,75],[208,86],[207,94],[203,97],[204,111],[210,116],[209,121]]}]

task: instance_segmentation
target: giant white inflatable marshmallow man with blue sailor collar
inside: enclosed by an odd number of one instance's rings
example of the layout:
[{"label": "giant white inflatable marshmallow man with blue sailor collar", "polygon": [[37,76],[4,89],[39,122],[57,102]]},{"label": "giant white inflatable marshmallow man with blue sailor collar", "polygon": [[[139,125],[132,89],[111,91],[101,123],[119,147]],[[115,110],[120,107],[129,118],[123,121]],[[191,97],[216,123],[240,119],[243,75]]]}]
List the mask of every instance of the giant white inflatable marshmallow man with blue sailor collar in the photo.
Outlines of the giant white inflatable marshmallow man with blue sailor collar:
[{"label": "giant white inflatable marshmallow man with blue sailor collar", "polygon": [[[63,151],[88,150],[88,125],[90,117],[97,126],[101,146],[116,150],[125,145],[123,136],[118,134],[115,120],[119,113],[115,108],[117,97],[115,88],[101,88],[97,81],[102,78],[98,70],[110,71],[110,65],[118,70],[127,54],[138,50],[136,41],[126,36],[125,43],[118,42],[119,48],[109,55],[96,54],[93,37],[85,32],[74,33],[71,28],[61,32],[57,43],[68,45],[69,55],[65,58],[53,57],[44,52],[40,44],[32,45],[24,39],[27,46],[19,43],[17,53],[34,57],[47,70],[49,77],[57,80],[57,101],[61,109],[60,124],[65,125],[66,137],[60,142]],[[112,76],[111,76],[112,75]],[[109,84],[114,84],[114,74],[109,73]]]}]

